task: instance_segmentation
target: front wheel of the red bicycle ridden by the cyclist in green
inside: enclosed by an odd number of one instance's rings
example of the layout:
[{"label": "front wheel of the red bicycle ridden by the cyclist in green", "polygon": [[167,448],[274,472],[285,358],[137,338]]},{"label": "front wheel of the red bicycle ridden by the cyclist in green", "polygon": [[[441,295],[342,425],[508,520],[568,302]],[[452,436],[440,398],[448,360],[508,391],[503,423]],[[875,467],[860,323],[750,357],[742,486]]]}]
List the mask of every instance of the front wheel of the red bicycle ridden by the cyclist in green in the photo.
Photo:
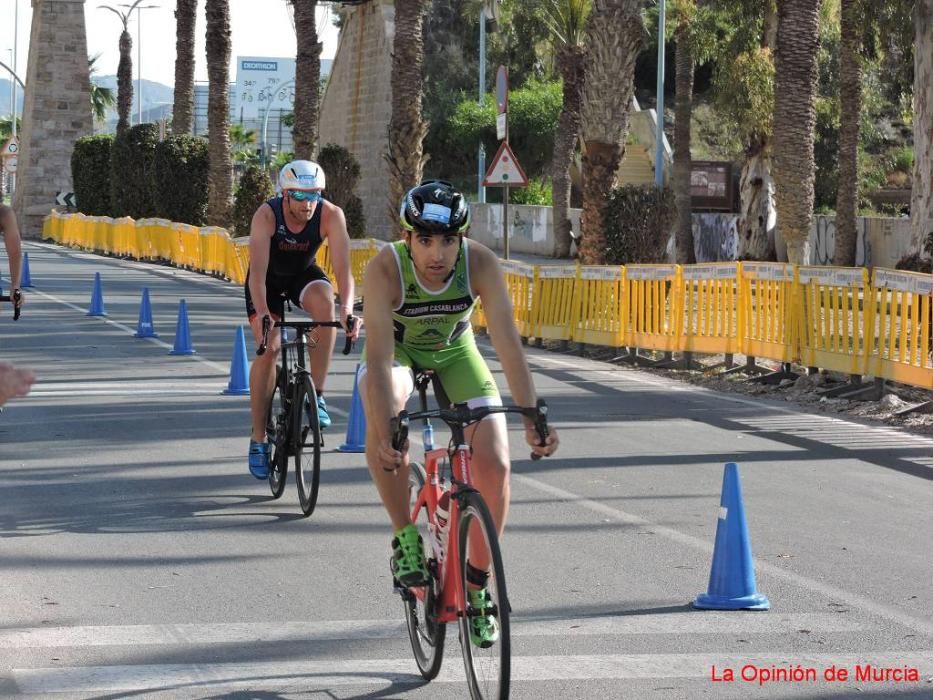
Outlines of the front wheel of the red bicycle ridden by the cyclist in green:
[{"label": "front wheel of the red bicycle ridden by the cyclist in green", "polygon": [[[470,697],[473,700],[504,700],[509,696],[511,680],[512,646],[509,631],[509,599],[505,589],[502,554],[492,515],[479,493],[464,496],[460,509],[458,536],[460,538],[460,585],[467,601],[467,614],[460,618],[460,647],[466,669]],[[486,582],[490,607],[485,611],[469,604],[467,560],[470,549],[479,548],[489,560],[489,578]],[[470,641],[470,621],[485,612],[498,625],[498,639],[487,648]]]}]

